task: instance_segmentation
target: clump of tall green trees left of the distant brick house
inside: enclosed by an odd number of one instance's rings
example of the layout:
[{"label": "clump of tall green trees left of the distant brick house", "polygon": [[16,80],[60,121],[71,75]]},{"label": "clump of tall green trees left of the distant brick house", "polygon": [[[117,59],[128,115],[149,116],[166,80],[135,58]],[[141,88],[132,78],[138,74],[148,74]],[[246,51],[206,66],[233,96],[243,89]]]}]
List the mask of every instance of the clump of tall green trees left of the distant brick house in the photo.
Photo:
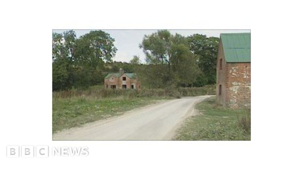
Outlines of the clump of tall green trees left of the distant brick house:
[{"label": "clump of tall green trees left of the distant brick house", "polygon": [[102,83],[104,63],[112,61],[117,51],[114,41],[101,30],[80,38],[72,30],[53,33],[53,90]]}]

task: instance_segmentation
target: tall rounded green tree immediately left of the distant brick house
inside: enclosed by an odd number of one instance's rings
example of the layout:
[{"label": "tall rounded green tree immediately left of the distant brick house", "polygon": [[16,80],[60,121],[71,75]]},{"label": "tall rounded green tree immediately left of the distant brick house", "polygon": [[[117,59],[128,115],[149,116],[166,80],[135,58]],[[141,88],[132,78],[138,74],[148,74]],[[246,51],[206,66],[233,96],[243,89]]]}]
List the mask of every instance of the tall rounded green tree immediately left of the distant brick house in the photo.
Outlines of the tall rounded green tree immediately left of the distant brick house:
[{"label": "tall rounded green tree immediately left of the distant brick house", "polygon": [[[103,82],[104,63],[112,61],[117,48],[114,46],[115,39],[104,31],[90,31],[81,36],[75,43],[75,64],[77,71],[75,80],[82,81],[84,75],[88,85],[95,85]],[[79,78],[80,77],[80,78]],[[87,87],[85,82],[76,83]]]}]

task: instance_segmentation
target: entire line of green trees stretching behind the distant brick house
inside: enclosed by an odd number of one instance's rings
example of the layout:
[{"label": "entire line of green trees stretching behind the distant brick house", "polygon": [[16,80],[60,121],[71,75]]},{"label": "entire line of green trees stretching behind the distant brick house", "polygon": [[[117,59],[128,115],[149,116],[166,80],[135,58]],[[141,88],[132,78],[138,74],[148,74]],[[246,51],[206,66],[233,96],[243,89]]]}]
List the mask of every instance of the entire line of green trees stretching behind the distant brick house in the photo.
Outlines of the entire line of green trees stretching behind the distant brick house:
[{"label": "entire line of green trees stretching behind the distant brick house", "polygon": [[103,84],[107,73],[137,73],[146,88],[201,87],[216,82],[219,38],[193,34],[188,37],[167,30],[145,35],[139,47],[146,64],[138,56],[129,63],[113,62],[115,39],[98,30],[76,37],[75,31],[53,33],[53,90],[87,88]]}]

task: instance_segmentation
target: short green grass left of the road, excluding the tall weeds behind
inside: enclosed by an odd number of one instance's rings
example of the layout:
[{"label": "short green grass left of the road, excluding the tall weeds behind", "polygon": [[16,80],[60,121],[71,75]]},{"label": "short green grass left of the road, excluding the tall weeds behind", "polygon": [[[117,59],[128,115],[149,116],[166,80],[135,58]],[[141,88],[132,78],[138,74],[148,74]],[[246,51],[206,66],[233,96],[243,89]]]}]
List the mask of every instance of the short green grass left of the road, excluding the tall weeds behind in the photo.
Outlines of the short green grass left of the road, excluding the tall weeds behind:
[{"label": "short green grass left of the road, excluding the tall weeds behind", "polygon": [[125,111],[165,99],[168,98],[97,98],[90,96],[70,98],[53,97],[53,133],[58,130],[80,126],[84,123],[116,116]]}]

